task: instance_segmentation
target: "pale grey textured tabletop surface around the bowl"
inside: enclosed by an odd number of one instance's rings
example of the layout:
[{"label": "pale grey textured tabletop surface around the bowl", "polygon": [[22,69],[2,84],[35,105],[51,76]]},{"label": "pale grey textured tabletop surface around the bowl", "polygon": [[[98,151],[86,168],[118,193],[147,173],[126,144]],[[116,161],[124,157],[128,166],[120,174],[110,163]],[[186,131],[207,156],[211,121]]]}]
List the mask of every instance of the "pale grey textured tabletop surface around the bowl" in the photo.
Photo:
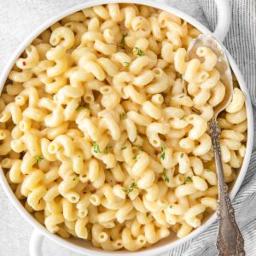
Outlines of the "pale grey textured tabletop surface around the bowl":
[{"label": "pale grey textured tabletop surface around the bowl", "polygon": [[[169,0],[172,6],[182,9],[197,20],[204,21],[196,0]],[[83,0],[0,0],[0,70],[30,32],[45,20]],[[0,188],[0,255],[27,256],[32,227],[20,217]],[[44,240],[45,256],[79,256]],[[151,256],[151,255],[150,255]],[[177,255],[174,255],[177,256]]]}]

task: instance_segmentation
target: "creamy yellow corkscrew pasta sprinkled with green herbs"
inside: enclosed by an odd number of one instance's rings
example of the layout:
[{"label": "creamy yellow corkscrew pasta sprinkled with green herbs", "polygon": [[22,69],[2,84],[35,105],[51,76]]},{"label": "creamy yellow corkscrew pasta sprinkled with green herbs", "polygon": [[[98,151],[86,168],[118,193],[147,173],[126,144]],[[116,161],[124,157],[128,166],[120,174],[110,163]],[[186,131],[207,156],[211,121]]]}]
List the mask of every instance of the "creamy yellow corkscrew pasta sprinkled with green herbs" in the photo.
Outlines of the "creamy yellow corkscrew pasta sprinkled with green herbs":
[{"label": "creamy yellow corkscrew pasta sprinkled with green herbs", "polygon": [[[185,61],[199,33],[165,11],[112,3],[50,26],[15,62],[0,98],[1,165],[50,232],[135,251],[187,236],[216,210],[207,122],[225,88],[211,49]],[[237,85],[218,123],[230,183],[247,141]]]}]

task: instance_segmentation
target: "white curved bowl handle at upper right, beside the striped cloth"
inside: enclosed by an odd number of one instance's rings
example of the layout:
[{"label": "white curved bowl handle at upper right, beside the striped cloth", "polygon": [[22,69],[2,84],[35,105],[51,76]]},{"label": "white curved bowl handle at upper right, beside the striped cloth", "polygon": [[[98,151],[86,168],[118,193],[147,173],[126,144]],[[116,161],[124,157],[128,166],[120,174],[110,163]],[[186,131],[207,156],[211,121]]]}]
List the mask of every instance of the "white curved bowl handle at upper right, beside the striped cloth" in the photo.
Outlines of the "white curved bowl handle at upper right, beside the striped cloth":
[{"label": "white curved bowl handle at upper right, beside the striped cloth", "polygon": [[[157,0],[160,3],[168,4],[169,0]],[[214,0],[217,10],[218,10],[218,21],[217,26],[213,32],[213,36],[218,39],[218,41],[223,42],[227,33],[230,30],[231,22],[231,9],[229,0]]]}]

